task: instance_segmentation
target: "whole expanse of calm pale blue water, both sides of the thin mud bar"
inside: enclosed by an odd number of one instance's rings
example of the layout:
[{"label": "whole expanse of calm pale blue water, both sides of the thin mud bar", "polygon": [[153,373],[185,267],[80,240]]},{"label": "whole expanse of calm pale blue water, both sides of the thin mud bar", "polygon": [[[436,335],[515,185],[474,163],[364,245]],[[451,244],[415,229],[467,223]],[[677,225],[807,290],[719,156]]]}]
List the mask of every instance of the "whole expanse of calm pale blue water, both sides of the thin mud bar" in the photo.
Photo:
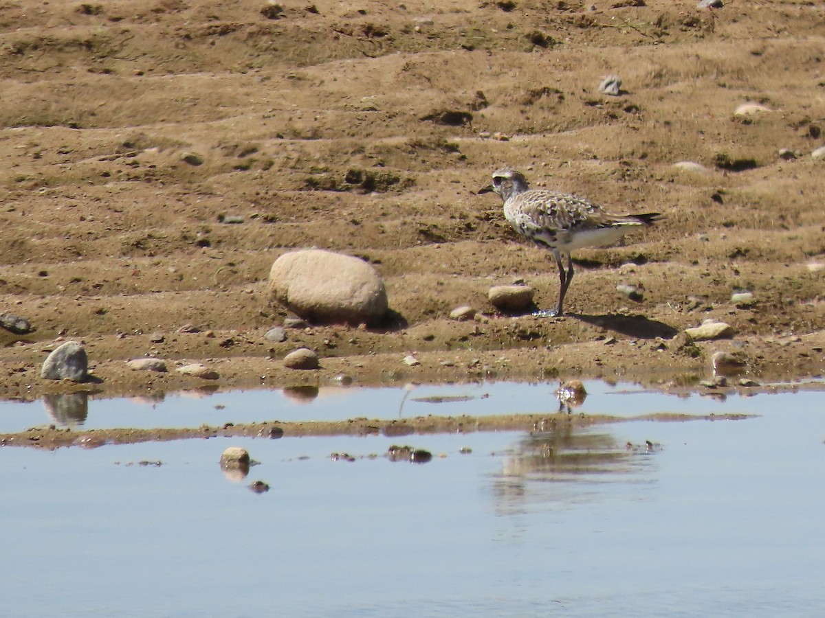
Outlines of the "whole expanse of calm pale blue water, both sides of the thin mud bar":
[{"label": "whole expanse of calm pale blue water, both sides of the thin mud bar", "polygon": [[[721,403],[587,386],[577,411],[760,416],[401,438],[433,452],[422,465],[389,461],[383,454],[398,438],[381,436],[2,447],[0,615],[818,615],[822,392]],[[410,405],[461,389],[476,399]],[[419,387],[402,414],[552,412],[553,391]],[[262,391],[248,404],[243,393],[223,404],[220,395],[167,397],[191,408],[158,414],[194,426],[216,423],[217,412],[236,422],[285,419],[288,410],[397,418],[406,393],[341,392],[292,409]],[[132,425],[129,405],[90,400],[85,426],[118,415]],[[464,405],[471,409],[455,411]],[[260,462],[243,482],[219,468],[230,445]],[[356,461],[332,461],[332,452]],[[271,489],[254,494],[252,480]]]}]

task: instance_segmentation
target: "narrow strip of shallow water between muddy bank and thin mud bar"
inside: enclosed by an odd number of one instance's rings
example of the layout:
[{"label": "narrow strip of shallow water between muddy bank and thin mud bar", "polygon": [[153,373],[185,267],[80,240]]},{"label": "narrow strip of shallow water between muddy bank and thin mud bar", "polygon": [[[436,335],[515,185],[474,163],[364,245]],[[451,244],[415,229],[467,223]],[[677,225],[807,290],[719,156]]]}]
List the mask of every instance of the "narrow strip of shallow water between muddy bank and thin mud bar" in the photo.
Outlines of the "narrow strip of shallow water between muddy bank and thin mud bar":
[{"label": "narrow strip of shallow water between muddy bank and thin mud bar", "polygon": [[[783,405],[778,396],[770,393],[733,394],[722,400],[718,393],[666,395],[662,391],[645,391],[629,382],[608,384],[593,380],[585,385],[588,395],[574,409],[577,413],[625,417],[655,412],[761,414]],[[214,394],[184,391],[120,400],[85,393],[51,395],[29,403],[0,401],[0,433],[47,424],[82,429],[174,428],[268,420],[409,419],[428,414],[554,414],[559,411],[559,400],[554,394],[558,387],[558,382],[482,382],[395,388],[300,387]],[[801,391],[794,397],[794,405],[815,405],[821,397],[816,391]]]}]

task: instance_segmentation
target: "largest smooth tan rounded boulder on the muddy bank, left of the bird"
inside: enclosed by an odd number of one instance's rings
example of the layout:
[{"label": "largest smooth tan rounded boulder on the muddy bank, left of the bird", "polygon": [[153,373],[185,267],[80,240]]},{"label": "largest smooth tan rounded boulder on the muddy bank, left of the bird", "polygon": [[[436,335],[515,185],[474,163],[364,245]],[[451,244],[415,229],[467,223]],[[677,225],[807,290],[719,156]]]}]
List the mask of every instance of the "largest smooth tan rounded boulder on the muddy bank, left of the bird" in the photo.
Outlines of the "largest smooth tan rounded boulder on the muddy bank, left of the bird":
[{"label": "largest smooth tan rounded boulder on the muddy bank, left of the bird", "polygon": [[275,260],[269,294],[304,319],[327,324],[375,324],[388,307],[384,281],[371,265],[318,249]]}]

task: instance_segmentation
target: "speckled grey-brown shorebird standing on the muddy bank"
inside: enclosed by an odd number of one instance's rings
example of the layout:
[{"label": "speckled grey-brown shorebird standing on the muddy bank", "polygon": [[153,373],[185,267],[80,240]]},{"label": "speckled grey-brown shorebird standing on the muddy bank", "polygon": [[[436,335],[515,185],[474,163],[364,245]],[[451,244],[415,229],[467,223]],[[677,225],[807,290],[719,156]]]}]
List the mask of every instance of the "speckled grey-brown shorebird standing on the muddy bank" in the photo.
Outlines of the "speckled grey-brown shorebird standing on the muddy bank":
[{"label": "speckled grey-brown shorebird standing on the muddy bank", "polygon": [[[586,246],[606,246],[635,227],[651,225],[659,213],[616,215],[587,199],[544,189],[530,189],[520,171],[493,172],[493,191],[504,200],[504,217],[521,236],[553,252],[559,265],[559,304],[537,316],[561,316],[564,295],[573,280],[571,251]],[[567,270],[562,257],[567,258]]]}]

